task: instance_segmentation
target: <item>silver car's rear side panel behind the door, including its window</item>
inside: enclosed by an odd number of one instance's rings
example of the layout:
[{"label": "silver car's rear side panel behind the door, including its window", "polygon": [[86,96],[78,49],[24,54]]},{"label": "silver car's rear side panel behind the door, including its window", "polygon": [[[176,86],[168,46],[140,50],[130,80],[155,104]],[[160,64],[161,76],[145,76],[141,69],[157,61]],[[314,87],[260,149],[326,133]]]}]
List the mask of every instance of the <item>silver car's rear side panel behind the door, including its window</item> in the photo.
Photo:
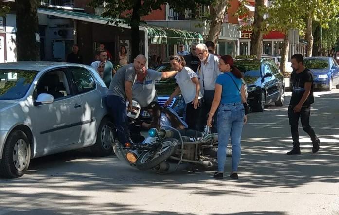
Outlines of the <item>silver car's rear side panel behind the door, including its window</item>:
[{"label": "silver car's rear side panel behind the door, including its window", "polygon": [[69,67],[74,93],[82,104],[81,132],[78,142],[83,146],[94,143],[97,127],[104,115],[103,95],[97,90],[94,77],[83,67]]}]

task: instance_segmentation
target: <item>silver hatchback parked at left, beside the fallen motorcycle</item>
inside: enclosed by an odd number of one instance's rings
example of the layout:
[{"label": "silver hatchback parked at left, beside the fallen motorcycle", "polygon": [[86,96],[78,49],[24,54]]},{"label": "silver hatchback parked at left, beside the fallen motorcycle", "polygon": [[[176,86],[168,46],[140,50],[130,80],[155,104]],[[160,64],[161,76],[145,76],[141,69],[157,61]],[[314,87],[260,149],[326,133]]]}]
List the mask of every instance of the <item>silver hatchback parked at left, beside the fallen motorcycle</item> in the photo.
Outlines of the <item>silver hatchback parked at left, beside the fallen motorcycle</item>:
[{"label": "silver hatchback parked at left, beside the fallen motorcycle", "polygon": [[86,65],[0,64],[0,174],[22,176],[32,158],[89,147],[112,152],[107,87]]}]

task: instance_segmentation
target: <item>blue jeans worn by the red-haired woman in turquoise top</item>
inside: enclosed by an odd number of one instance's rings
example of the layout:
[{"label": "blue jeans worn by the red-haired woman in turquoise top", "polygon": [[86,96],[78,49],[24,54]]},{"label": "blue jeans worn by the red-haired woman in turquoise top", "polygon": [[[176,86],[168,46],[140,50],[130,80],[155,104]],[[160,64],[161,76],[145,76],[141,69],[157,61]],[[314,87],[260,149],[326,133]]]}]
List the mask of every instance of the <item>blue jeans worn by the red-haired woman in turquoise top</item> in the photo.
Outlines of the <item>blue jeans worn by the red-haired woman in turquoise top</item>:
[{"label": "blue jeans worn by the red-haired woman in turquoise top", "polygon": [[238,171],[241,156],[241,132],[244,125],[244,105],[238,103],[220,104],[218,110],[218,171],[224,172],[226,148],[229,138],[232,144],[232,172]]}]

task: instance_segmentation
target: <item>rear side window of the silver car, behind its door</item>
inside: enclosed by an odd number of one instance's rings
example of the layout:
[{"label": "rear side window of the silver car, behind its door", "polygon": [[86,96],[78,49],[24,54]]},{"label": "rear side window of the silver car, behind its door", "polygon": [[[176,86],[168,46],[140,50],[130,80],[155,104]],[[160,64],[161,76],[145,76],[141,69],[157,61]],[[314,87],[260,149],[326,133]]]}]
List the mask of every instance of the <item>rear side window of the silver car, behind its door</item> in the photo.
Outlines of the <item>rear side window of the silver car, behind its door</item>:
[{"label": "rear side window of the silver car, behind its door", "polygon": [[96,85],[90,72],[82,67],[70,67],[75,90],[78,94],[94,90]]}]

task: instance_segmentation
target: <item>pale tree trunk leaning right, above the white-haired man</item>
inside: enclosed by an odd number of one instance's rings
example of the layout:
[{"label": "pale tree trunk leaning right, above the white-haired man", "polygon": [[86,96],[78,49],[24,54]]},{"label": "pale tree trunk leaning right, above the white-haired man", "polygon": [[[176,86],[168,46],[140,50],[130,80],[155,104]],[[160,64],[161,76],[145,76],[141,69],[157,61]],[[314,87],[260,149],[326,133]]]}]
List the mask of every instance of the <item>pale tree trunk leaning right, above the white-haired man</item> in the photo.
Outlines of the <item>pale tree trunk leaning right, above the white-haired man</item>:
[{"label": "pale tree trunk leaning right, above the white-haired man", "polygon": [[220,36],[221,25],[224,20],[225,11],[227,9],[228,0],[216,0],[215,3],[216,5],[214,7],[210,6],[211,23],[207,40],[217,44]]}]

